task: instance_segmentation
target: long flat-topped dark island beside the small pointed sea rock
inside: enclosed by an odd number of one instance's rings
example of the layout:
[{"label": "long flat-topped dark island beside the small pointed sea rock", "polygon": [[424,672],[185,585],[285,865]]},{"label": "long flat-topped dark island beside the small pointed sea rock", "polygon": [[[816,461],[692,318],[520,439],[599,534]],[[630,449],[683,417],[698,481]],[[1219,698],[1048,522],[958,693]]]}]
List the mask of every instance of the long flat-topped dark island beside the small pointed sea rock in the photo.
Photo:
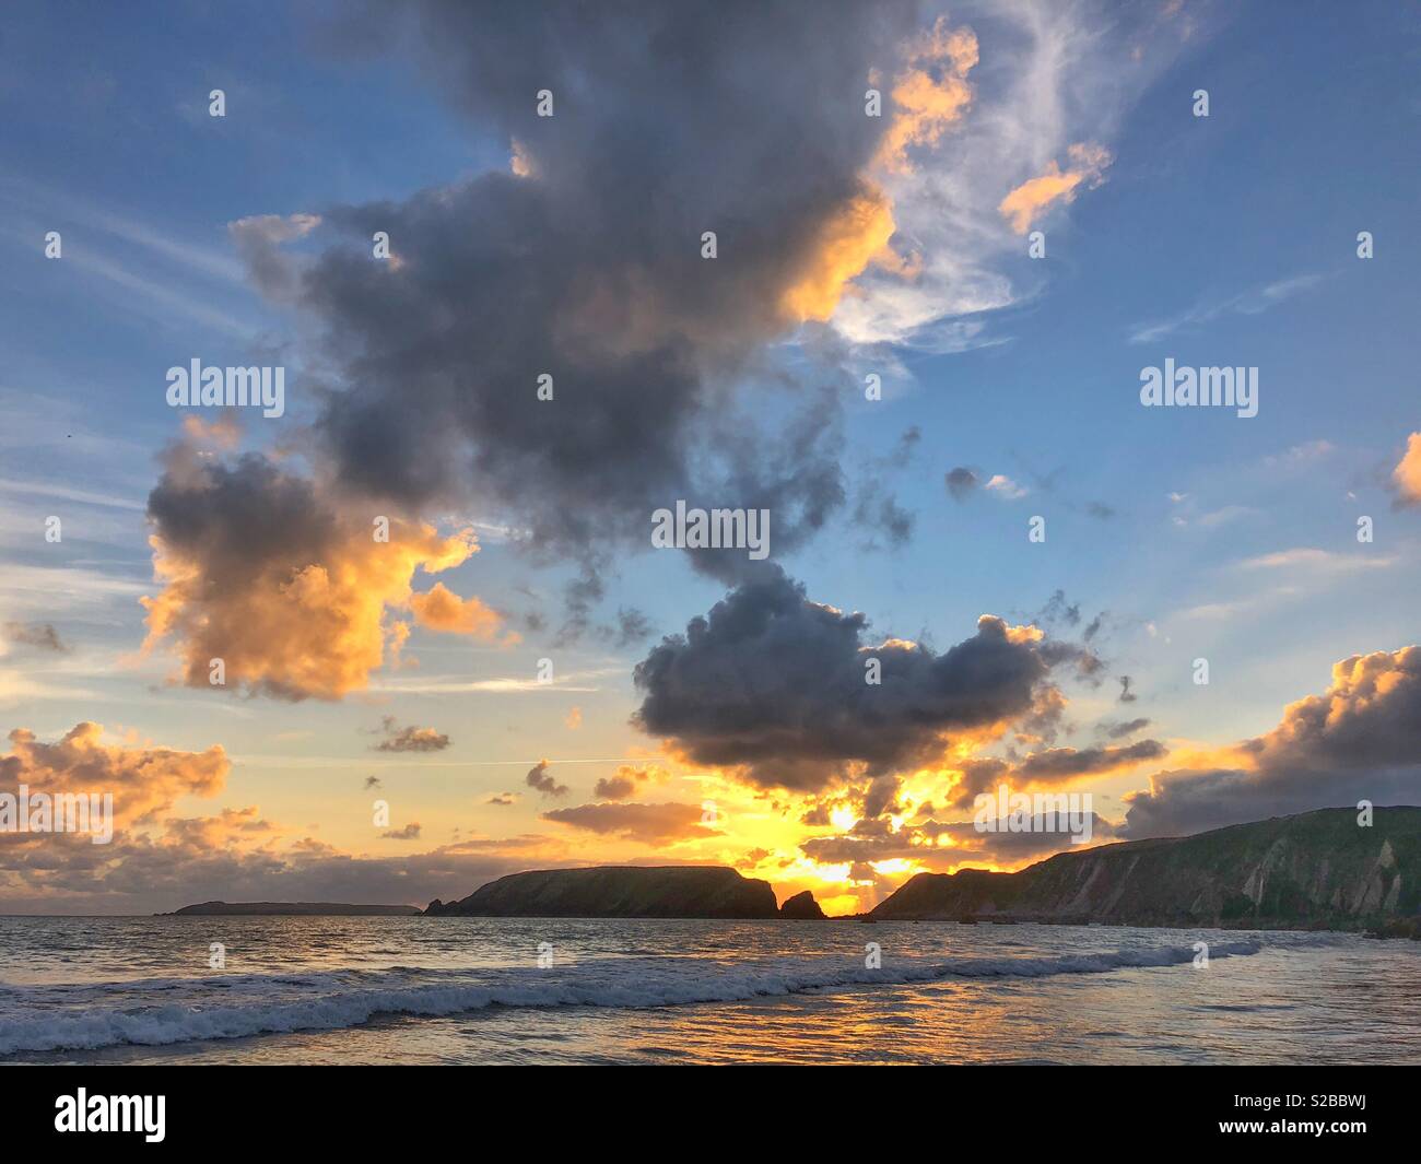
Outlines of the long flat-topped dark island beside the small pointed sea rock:
[{"label": "long flat-topped dark island beside the small pointed sea rock", "polygon": [[493,918],[773,918],[769,881],[719,866],[601,866],[514,873],[431,915]]}]

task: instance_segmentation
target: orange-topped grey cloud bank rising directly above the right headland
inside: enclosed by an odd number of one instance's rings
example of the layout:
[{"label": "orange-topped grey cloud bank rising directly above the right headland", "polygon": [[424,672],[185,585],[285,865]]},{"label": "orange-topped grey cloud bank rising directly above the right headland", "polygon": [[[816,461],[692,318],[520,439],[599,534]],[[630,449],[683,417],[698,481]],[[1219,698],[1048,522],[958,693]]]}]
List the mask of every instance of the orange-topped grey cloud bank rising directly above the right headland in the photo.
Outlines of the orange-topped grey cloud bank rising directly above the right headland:
[{"label": "orange-topped grey cloud bank rising directly above the right headland", "polygon": [[1127,799],[1125,836],[1195,833],[1356,804],[1414,803],[1421,787],[1421,647],[1353,655],[1322,695],[1290,704],[1273,731],[1215,767],[1151,777]]}]

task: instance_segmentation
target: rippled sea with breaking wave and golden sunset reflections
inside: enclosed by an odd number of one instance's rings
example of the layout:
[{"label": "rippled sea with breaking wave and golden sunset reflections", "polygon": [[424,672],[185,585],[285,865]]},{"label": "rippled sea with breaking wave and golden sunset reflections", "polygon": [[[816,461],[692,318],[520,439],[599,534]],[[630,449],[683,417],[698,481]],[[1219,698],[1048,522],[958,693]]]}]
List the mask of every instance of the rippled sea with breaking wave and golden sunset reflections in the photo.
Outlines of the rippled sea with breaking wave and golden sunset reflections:
[{"label": "rippled sea with breaking wave and golden sunset reflections", "polygon": [[0,917],[0,1063],[1421,1063],[1353,934]]}]

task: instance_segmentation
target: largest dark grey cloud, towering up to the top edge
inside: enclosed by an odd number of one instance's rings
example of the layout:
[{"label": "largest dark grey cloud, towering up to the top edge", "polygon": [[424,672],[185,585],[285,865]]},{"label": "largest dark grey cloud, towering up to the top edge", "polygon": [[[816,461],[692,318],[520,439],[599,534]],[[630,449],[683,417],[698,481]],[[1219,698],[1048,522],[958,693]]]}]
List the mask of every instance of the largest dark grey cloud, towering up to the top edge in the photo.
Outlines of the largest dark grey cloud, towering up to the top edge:
[{"label": "largest dark grey cloud, towering up to the top edge", "polygon": [[[885,119],[863,114],[865,78],[918,27],[915,3],[804,20],[776,0],[347,16],[344,48],[412,53],[480,131],[517,142],[530,176],[323,212],[340,240],[294,297],[338,372],[317,431],[344,485],[411,509],[476,496],[588,577],[647,546],[652,510],[676,499],[769,507],[776,554],[821,527],[844,503],[847,379],[791,384],[801,406],[779,431],[736,389],[789,379],[764,345],[796,323],[784,294],[826,227],[868,193]],[[541,90],[553,117],[537,117]],[[378,230],[396,264],[372,260]],[[745,563],[695,559],[725,578]]]}]

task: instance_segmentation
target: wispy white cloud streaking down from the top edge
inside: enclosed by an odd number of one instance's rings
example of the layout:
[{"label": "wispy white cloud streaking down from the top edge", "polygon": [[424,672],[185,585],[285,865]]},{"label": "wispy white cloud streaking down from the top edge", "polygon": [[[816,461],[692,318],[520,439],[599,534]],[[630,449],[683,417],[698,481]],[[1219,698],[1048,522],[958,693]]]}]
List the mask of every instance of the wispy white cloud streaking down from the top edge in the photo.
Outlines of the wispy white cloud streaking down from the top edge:
[{"label": "wispy white cloud streaking down from the top edge", "polygon": [[[1069,173],[1083,175],[1071,195],[1088,188],[1104,168],[1101,146],[1080,144],[1108,142],[1182,45],[1144,9],[1101,18],[1097,4],[956,4],[952,16],[975,28],[983,64],[934,65],[963,97],[971,85],[971,104],[931,149],[911,152],[909,166],[880,166],[892,246],[908,260],[870,264],[840,300],[831,323],[855,344],[952,352],[1006,343],[989,313],[1040,294],[1046,276],[1003,216],[1003,193],[1023,178]],[[1131,54],[1145,41],[1148,54]],[[885,70],[884,84],[892,80]],[[1047,185],[1016,199],[1040,200]]]}]

